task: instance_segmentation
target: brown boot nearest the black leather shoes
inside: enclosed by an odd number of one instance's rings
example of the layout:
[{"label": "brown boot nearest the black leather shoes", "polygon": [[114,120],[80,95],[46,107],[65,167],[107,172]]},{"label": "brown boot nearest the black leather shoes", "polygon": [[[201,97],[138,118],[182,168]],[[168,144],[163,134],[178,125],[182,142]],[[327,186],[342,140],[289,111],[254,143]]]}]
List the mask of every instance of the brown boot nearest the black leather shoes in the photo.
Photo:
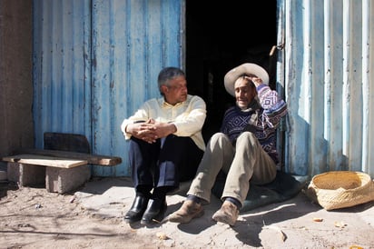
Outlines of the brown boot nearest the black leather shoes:
[{"label": "brown boot nearest the black leather shoes", "polygon": [[197,204],[192,200],[186,200],[180,209],[169,214],[168,221],[173,223],[189,223],[193,218],[202,217],[202,214],[204,214],[202,204]]}]

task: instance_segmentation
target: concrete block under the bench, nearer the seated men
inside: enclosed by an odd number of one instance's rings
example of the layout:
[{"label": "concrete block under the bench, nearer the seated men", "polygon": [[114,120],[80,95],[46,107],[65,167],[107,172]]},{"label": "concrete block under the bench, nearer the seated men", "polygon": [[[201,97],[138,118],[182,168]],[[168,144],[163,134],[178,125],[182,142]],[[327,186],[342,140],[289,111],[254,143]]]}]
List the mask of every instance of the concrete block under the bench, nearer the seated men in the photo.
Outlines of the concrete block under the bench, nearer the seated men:
[{"label": "concrete block under the bench, nearer the seated men", "polygon": [[88,165],[74,168],[47,167],[45,171],[45,188],[48,192],[64,194],[72,191],[91,178],[91,169]]}]

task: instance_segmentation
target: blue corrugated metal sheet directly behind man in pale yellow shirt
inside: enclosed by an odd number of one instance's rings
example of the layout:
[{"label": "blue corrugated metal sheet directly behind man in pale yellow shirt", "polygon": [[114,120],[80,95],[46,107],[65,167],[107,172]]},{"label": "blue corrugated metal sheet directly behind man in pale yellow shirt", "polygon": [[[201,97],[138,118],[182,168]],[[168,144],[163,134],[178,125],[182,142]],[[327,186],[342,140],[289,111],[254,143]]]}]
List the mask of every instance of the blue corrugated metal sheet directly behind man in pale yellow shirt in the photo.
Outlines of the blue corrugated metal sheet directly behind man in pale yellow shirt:
[{"label": "blue corrugated metal sheet directly behind man in pale yellow shirt", "polygon": [[123,155],[120,167],[95,167],[98,175],[130,175],[123,119],[160,96],[157,75],[181,63],[179,1],[93,2],[94,150]]}]

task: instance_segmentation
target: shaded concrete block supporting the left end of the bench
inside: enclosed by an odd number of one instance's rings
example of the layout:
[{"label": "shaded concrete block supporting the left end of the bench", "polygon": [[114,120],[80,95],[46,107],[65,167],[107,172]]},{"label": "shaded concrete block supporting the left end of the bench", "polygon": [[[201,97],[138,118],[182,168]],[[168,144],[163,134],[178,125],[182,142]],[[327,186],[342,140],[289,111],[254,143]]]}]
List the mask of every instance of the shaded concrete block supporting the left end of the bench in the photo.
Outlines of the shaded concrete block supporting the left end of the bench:
[{"label": "shaded concrete block supporting the left end of the bench", "polygon": [[33,164],[7,164],[7,177],[11,182],[20,186],[35,186],[45,184],[45,167]]}]

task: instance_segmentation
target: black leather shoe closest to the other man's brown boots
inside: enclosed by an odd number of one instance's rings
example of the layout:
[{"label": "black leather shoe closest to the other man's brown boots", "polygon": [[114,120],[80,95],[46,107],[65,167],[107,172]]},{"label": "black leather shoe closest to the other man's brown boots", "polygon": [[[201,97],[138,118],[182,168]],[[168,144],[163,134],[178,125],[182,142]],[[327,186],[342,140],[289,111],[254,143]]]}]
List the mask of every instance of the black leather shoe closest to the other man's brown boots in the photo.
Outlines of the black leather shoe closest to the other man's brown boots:
[{"label": "black leather shoe closest to the other man's brown boots", "polygon": [[147,209],[143,214],[141,224],[152,224],[153,222],[160,223],[166,212],[166,208],[166,201],[150,199]]}]

